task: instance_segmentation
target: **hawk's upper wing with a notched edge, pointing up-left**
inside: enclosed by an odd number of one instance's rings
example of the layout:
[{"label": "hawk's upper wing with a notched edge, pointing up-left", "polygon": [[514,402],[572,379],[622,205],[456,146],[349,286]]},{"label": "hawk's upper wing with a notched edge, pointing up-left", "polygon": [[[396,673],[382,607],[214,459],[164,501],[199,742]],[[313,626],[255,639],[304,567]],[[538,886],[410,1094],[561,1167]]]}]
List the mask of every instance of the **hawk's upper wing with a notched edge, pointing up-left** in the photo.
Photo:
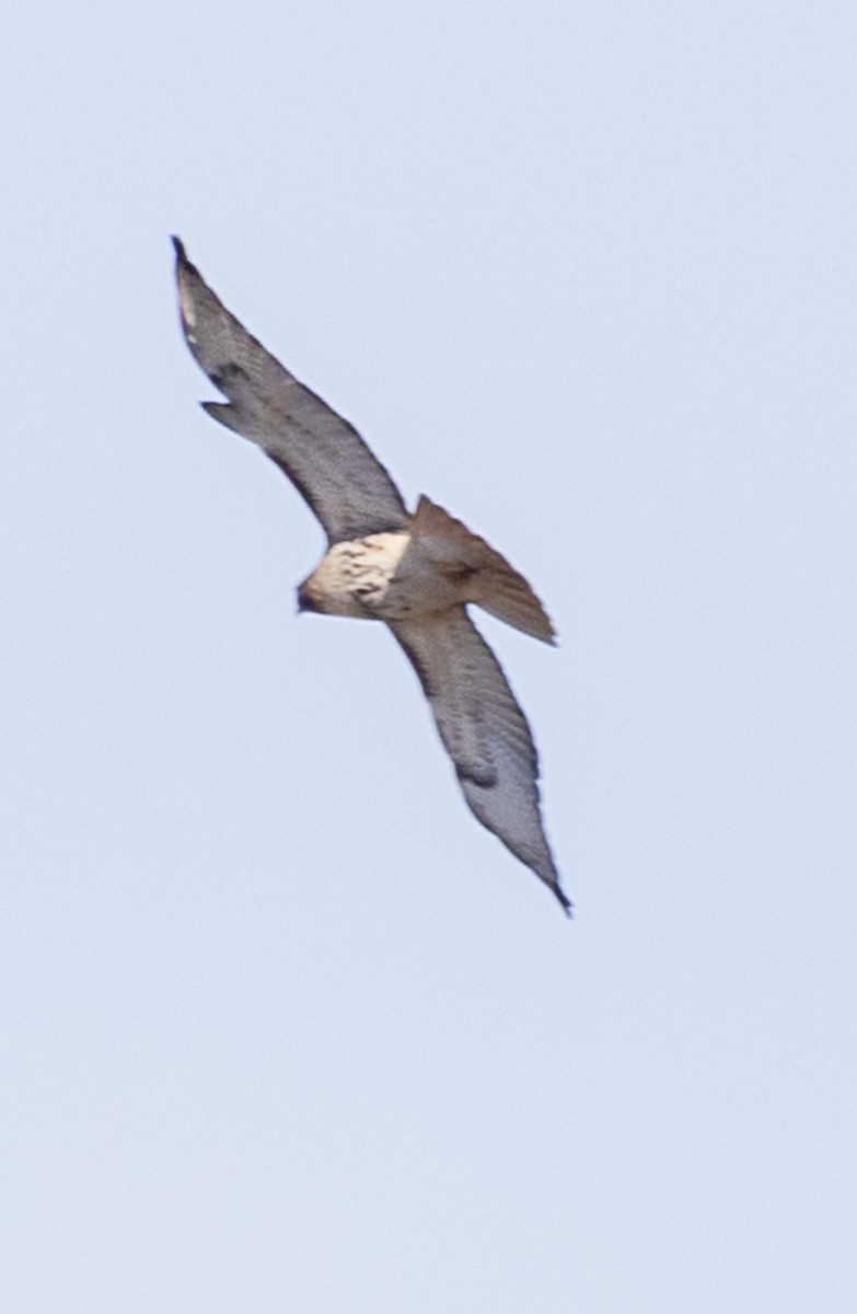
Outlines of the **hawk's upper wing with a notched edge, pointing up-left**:
[{"label": "hawk's upper wing with a notched edge, pointing up-left", "polygon": [[181,326],[195,359],[229,403],[204,402],[258,443],[292,480],[327,540],[404,530],[401,494],[356,428],[300,384],[226,310],[174,238]]}]

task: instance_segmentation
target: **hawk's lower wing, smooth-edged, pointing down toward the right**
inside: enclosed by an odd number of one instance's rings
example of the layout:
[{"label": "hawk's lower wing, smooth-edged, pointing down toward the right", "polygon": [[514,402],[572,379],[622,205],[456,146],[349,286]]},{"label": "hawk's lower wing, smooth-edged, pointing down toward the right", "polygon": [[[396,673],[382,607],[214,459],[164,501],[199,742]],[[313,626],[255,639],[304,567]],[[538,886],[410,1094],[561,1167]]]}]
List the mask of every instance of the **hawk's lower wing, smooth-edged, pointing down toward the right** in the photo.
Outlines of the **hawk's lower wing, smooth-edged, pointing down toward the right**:
[{"label": "hawk's lower wing, smooth-edged, pointing down toward the right", "polygon": [[419,677],[471,811],[570,912],[542,824],[536,748],[493,652],[464,607],[389,628]]}]

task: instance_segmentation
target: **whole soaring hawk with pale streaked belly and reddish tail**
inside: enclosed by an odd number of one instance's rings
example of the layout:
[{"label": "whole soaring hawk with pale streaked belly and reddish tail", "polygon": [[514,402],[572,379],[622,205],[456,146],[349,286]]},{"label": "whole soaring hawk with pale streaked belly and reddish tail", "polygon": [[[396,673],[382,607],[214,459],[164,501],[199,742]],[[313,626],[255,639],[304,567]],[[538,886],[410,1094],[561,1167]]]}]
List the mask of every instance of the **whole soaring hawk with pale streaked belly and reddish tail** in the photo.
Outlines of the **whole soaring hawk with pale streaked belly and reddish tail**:
[{"label": "whole soaring hawk with pale streaked belly and reddish tail", "polygon": [[204,410],[280,466],[327,535],[327,552],[298,586],[298,608],[386,624],[417,671],[468,807],[570,915],[542,821],[530,727],[467,611],[475,603],[551,644],[544,607],[498,552],[427,497],[409,514],[358,431],[247,332],[174,244],[184,336],[227,398]]}]

